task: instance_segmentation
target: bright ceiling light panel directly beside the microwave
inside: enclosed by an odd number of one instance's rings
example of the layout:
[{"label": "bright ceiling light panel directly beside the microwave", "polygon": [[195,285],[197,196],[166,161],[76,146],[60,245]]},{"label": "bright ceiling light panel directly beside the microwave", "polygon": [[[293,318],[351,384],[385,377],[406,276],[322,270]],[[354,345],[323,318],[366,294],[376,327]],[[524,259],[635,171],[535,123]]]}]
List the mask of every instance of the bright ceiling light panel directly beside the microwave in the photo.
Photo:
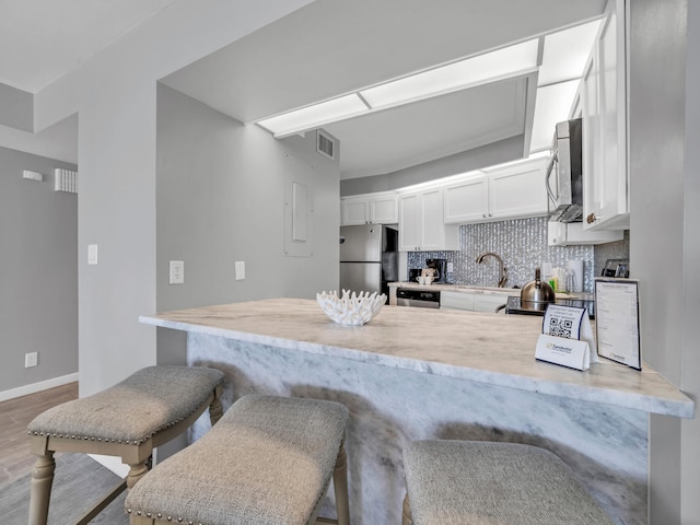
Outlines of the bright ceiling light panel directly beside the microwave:
[{"label": "bright ceiling light panel directly beside the microwave", "polygon": [[555,126],[569,118],[580,83],[581,80],[575,79],[537,89],[530,153],[551,147]]}]

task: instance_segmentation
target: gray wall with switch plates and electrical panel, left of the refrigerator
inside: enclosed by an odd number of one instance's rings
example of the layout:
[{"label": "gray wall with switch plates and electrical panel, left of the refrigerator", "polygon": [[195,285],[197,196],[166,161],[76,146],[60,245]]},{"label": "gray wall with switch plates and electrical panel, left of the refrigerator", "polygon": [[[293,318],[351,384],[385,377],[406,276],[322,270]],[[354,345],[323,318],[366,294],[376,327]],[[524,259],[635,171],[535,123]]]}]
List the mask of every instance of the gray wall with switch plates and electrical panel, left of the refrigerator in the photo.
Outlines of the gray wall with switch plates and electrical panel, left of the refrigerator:
[{"label": "gray wall with switch plates and electrical panel, left of the refrigerator", "polygon": [[[313,166],[312,257],[284,254],[287,153]],[[338,179],[314,133],[276,140],[159,85],[158,311],[336,289]],[[184,284],[168,284],[170,260],[185,261]],[[234,279],[236,260],[245,280]]]}]

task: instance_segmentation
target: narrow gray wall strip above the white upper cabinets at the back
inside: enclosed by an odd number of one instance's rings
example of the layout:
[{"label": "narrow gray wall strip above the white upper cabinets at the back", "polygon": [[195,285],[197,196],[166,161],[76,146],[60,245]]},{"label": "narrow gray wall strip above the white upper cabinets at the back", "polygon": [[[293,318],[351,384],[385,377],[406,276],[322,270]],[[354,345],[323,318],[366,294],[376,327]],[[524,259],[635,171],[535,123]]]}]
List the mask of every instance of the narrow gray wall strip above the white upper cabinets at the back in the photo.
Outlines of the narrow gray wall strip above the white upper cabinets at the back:
[{"label": "narrow gray wall strip above the white upper cabinets at the back", "polygon": [[341,180],[340,195],[347,197],[349,195],[372,194],[375,191],[404,188],[413,184],[493,166],[515,159],[522,159],[522,156],[523,137],[513,137],[397,172]]}]

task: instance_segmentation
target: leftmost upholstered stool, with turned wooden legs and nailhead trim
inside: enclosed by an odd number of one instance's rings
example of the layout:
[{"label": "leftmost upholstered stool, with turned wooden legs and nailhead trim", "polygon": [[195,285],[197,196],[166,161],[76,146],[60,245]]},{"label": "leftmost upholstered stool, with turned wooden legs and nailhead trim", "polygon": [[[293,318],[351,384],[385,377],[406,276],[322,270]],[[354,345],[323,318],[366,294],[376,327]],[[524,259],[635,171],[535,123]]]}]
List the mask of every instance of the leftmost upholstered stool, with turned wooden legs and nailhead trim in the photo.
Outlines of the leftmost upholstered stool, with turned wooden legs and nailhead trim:
[{"label": "leftmost upholstered stool, with turned wooden legs and nailhead trim", "polygon": [[184,432],[209,407],[221,418],[224,375],[198,366],[150,366],[101,393],[68,401],[37,416],[28,425],[32,454],[30,525],[45,525],[56,452],[118,456],[129,474],[78,524],[95,517],[125,488],[148,471],[153,448]]}]

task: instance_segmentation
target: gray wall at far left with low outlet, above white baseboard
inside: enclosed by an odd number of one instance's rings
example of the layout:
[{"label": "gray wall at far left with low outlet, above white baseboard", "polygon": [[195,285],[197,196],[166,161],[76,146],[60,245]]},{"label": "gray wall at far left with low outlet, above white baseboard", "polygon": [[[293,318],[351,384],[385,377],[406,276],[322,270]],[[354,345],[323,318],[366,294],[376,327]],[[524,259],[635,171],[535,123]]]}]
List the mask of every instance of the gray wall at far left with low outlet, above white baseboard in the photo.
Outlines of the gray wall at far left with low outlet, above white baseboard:
[{"label": "gray wall at far left with low outlet, above white baseboard", "polygon": [[0,393],[78,372],[78,196],[54,191],[55,167],[75,170],[0,148]]}]

